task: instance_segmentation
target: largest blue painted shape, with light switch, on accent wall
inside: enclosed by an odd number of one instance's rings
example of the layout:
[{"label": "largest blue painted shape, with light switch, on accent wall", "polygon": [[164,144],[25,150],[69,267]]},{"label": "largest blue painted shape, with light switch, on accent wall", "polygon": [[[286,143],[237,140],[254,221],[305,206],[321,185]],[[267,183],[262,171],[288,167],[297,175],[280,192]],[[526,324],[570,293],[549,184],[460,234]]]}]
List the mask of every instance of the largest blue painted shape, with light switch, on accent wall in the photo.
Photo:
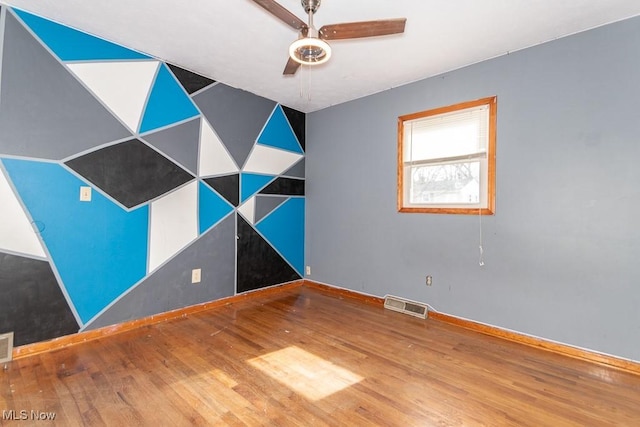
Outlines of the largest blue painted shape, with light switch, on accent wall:
[{"label": "largest blue painted shape, with light switch, on accent wall", "polygon": [[[88,322],[147,270],[149,207],[125,211],[99,191],[81,202],[88,185],[56,163],[3,159],[82,323]],[[91,280],[87,280],[91,278]]]}]

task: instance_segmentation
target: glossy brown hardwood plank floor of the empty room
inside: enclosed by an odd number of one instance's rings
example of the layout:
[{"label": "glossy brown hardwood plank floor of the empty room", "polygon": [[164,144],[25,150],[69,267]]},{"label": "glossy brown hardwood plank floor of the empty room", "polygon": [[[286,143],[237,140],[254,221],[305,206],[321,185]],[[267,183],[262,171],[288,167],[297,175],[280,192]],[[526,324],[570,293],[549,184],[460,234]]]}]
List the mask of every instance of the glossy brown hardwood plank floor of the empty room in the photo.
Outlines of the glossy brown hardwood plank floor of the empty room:
[{"label": "glossy brown hardwood plank floor of the empty room", "polygon": [[638,426],[640,376],[301,286],[13,361],[0,409],[0,425]]}]

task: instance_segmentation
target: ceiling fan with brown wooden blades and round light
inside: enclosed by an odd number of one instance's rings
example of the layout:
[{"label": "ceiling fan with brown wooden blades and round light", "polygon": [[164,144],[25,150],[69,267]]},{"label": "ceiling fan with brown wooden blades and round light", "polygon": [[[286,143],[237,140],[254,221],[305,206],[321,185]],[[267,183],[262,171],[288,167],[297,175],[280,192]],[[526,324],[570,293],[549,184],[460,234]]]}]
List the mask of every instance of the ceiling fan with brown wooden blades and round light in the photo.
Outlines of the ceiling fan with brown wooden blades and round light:
[{"label": "ceiling fan with brown wooden blades and round light", "polygon": [[301,0],[302,8],[309,16],[305,23],[275,0],[253,0],[273,16],[298,30],[300,36],[289,47],[289,60],[282,74],[295,74],[300,65],[322,64],[331,57],[331,47],[325,40],[344,40],[363,37],[386,36],[404,32],[406,18],[383,19],[378,21],[346,22],[324,25],[319,30],[313,26],[313,15],[320,7],[321,0]]}]

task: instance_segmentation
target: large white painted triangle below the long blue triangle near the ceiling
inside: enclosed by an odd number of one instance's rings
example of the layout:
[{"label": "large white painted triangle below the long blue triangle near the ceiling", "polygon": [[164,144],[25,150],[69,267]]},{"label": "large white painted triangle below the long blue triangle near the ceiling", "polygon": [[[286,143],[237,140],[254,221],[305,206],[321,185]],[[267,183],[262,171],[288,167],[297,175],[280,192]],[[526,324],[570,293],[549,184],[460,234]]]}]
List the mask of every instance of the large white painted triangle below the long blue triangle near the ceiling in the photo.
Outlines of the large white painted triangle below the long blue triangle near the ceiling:
[{"label": "large white painted triangle below the long blue triangle near the ceiling", "polygon": [[138,131],[158,61],[81,62],[67,66],[132,132]]}]

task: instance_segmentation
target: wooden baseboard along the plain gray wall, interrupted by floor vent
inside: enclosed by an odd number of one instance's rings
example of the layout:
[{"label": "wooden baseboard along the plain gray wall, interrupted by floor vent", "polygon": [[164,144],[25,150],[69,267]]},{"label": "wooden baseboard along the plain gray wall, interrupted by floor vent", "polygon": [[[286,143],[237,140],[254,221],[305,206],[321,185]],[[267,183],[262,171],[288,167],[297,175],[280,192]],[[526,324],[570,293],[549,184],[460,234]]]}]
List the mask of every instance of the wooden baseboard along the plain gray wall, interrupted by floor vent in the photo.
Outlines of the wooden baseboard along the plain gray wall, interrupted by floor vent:
[{"label": "wooden baseboard along the plain gray wall, interrupted by floor vent", "polygon": [[[371,295],[365,295],[352,291],[350,289],[336,288],[331,285],[313,282],[310,280],[304,280],[304,285],[316,289],[321,289],[326,292],[333,293],[345,298],[353,298],[368,304],[376,304],[383,306],[384,298],[375,297]],[[475,332],[480,332],[485,335],[491,335],[494,337],[502,338],[509,341],[514,341],[519,344],[528,345],[531,347],[540,348],[543,350],[551,351],[561,354],[563,356],[572,357],[575,359],[585,360],[591,363],[620,369],[623,371],[631,372],[640,375],[640,363],[627,359],[621,359],[615,356],[610,356],[595,351],[584,350],[576,347],[572,347],[568,344],[560,344],[553,341],[547,341],[542,338],[532,337],[524,335],[518,332],[508,331],[498,328],[497,326],[489,326],[482,323],[474,322],[472,320],[462,319],[449,314],[441,313],[438,311],[429,311],[429,318],[433,320],[439,320],[451,325],[459,326],[461,328],[469,329]]]}]

